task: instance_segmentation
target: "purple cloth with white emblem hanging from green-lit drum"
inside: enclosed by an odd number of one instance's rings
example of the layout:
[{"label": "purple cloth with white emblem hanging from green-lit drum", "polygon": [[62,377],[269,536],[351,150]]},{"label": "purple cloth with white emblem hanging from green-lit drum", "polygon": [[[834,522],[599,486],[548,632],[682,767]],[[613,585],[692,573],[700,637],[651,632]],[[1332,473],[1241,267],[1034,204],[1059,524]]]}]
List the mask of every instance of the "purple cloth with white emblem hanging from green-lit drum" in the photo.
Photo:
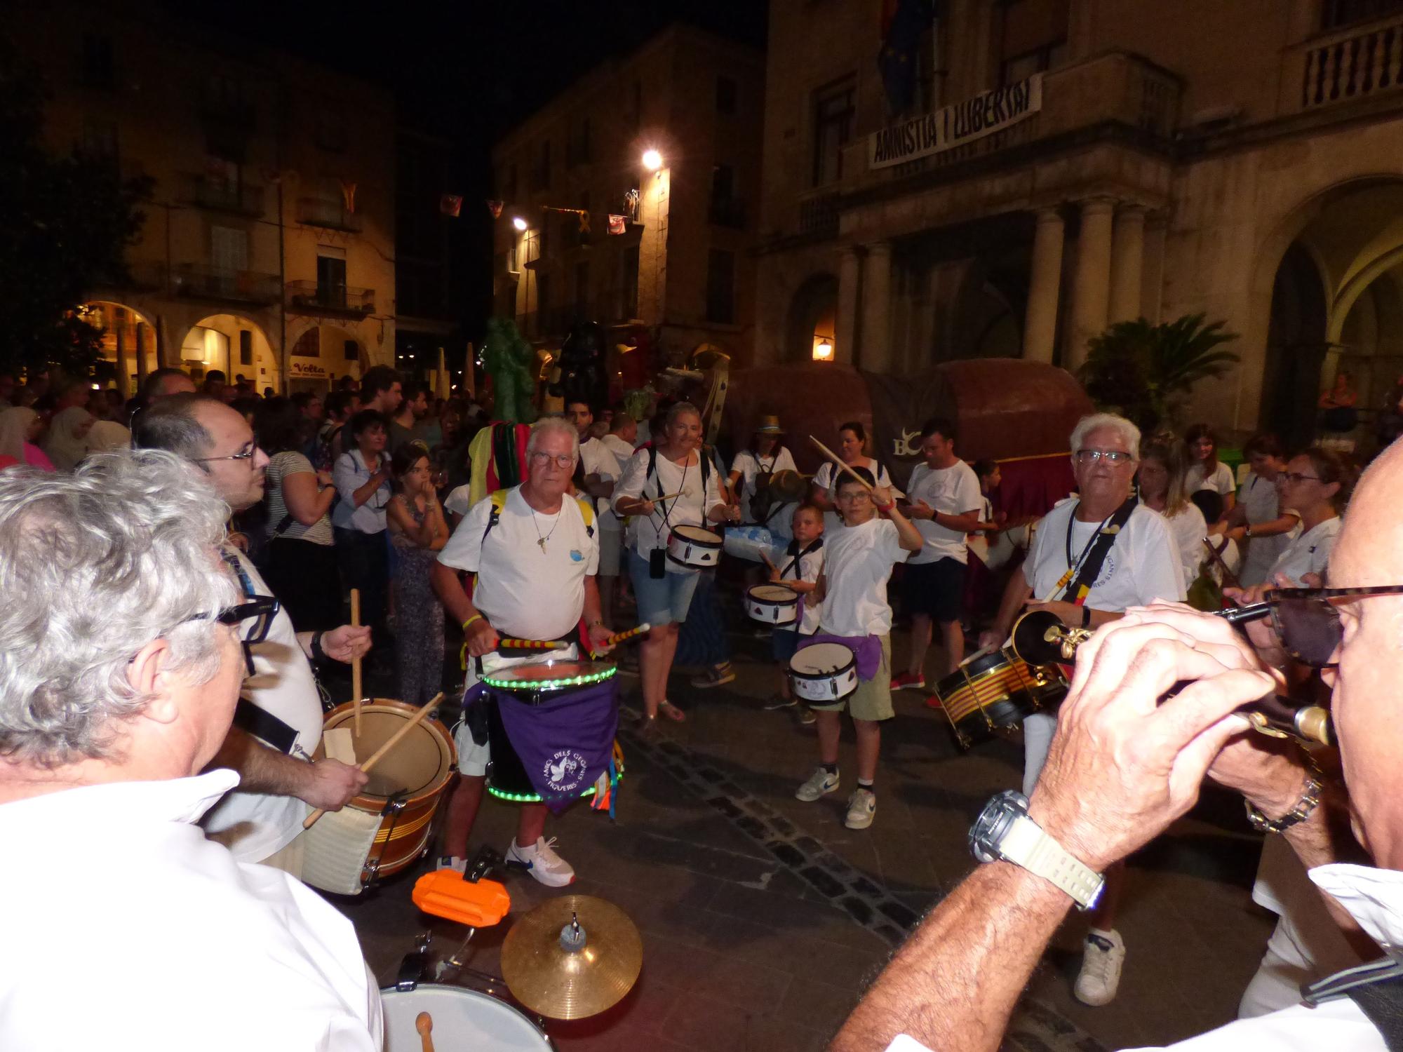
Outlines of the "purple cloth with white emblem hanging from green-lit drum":
[{"label": "purple cloth with white emblem hanging from green-lit drum", "polygon": [[615,679],[539,706],[492,690],[502,727],[521,756],[530,784],[560,814],[609,770],[619,729],[619,685]]}]

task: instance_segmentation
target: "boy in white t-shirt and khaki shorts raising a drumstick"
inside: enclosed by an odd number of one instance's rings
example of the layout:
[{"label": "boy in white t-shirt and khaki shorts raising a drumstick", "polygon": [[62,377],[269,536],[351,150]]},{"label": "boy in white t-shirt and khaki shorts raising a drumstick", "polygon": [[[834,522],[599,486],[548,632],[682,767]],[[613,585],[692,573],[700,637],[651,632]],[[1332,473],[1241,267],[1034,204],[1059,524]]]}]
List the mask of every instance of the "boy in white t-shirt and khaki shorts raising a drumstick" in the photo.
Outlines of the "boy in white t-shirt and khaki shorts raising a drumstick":
[{"label": "boy in white t-shirt and khaki shorts raising a drumstick", "polygon": [[891,490],[868,491],[871,473],[861,467],[850,470],[863,481],[845,471],[838,483],[843,525],[824,537],[824,572],[814,592],[824,609],[811,645],[836,642],[852,649],[859,683],[856,692],[833,704],[812,706],[818,714],[819,764],[794,795],[808,802],[838,788],[838,739],[846,708],[857,731],[857,790],[847,800],[843,825],[866,829],[877,814],[874,784],[881,721],[895,715],[887,581],[894,565],[904,562],[909,553],[920,551],[922,540],[920,532],[897,511]]}]

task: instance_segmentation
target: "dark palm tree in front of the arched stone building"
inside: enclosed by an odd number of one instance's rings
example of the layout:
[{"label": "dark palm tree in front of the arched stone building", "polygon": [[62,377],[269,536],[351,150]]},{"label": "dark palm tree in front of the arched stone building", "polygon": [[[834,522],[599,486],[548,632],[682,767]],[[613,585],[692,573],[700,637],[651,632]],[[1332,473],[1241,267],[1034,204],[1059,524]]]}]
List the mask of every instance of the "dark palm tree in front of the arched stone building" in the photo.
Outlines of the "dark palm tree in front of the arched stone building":
[{"label": "dark palm tree in front of the arched stone building", "polygon": [[1237,338],[1226,323],[1204,324],[1207,314],[1184,314],[1152,325],[1118,321],[1087,344],[1078,379],[1100,408],[1132,419],[1146,433],[1172,418],[1200,380],[1222,376],[1239,362],[1222,349]]}]

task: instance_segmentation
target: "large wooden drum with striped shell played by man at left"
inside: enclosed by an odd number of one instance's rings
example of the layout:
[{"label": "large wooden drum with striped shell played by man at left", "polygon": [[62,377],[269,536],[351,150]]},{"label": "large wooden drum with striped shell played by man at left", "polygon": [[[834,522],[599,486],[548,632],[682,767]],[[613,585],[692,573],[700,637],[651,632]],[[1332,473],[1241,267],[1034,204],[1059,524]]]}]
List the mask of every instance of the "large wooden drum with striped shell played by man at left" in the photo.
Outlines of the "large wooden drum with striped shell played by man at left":
[{"label": "large wooden drum with striped shell played by man at left", "polygon": [[[375,699],[361,707],[356,756],[369,759],[414,714],[414,706]],[[349,701],[333,708],[324,729],[354,727]],[[365,788],[302,833],[302,879],[338,895],[359,895],[376,877],[398,872],[428,850],[434,812],[457,756],[443,724],[424,720],[382,759]]]}]

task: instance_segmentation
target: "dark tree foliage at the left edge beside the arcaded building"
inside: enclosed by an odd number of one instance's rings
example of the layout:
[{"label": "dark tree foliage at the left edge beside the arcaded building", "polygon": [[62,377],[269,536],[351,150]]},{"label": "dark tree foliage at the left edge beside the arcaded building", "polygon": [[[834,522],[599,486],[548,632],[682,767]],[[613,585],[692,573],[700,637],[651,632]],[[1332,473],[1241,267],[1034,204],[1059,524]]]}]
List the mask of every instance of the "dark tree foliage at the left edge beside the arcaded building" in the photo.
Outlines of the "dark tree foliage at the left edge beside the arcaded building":
[{"label": "dark tree foliage at the left edge beside the arcaded building", "polygon": [[77,309],[126,275],[150,181],[122,180],[112,159],[51,153],[43,104],[34,70],[0,46],[0,369],[86,376],[101,331]]}]

